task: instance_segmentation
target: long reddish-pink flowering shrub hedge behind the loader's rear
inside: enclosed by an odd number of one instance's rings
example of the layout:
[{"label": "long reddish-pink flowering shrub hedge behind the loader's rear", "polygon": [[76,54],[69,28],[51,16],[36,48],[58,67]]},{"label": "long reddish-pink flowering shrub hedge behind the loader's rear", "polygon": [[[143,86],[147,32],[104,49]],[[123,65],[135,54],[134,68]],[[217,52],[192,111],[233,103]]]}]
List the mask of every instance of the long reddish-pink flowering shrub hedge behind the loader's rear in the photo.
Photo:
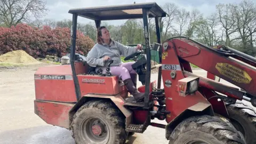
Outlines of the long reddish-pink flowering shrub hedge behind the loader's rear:
[{"label": "long reddish-pink flowering shrub hedge behind the loader's rear", "polygon": [[[23,50],[34,58],[46,55],[62,57],[70,52],[71,34],[69,28],[33,28],[24,23],[16,27],[0,27],[0,55],[6,52]],[[77,30],[76,52],[87,54],[94,42],[89,36]]]}]

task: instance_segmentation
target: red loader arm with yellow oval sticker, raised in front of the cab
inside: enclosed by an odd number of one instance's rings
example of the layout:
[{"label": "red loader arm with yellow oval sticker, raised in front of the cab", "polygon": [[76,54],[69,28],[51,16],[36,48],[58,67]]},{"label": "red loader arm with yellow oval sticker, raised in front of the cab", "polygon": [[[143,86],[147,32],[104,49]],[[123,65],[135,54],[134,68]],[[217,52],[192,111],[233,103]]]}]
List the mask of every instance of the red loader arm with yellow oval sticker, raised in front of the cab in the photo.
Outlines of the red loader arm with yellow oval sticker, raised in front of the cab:
[{"label": "red loader arm with yellow oval sticker, raised in front of the cab", "polygon": [[[163,46],[165,51],[169,47],[174,49],[183,71],[191,73],[189,63],[193,63],[199,68],[245,90],[245,92],[237,92],[239,95],[236,93],[229,94],[228,97],[242,100],[246,96],[251,99],[252,105],[255,106],[255,103],[253,103],[256,97],[254,86],[256,82],[255,58],[224,45],[214,49],[183,36],[169,38]],[[223,94],[228,92],[230,92],[229,89],[223,87]],[[242,97],[241,93],[244,93]]]}]

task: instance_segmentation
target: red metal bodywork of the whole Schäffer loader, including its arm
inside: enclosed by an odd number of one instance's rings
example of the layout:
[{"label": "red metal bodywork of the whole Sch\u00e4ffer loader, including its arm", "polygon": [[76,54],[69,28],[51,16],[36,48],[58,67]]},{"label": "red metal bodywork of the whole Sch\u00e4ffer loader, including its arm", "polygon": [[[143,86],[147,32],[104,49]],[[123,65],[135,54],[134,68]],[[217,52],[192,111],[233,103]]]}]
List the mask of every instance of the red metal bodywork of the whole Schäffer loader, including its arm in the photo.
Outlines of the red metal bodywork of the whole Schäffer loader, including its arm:
[{"label": "red metal bodywork of the whole Sch\u00e4ffer loader, including its arm", "polygon": [[[174,38],[166,43],[167,49],[163,46],[162,53],[162,79],[166,98],[165,110],[170,111],[170,114],[166,115],[167,123],[178,121],[177,119],[182,117],[182,114],[190,111],[198,112],[208,110],[208,108],[228,117],[223,101],[218,101],[217,98],[208,99],[216,95],[215,91],[238,100],[242,100],[244,93],[234,87],[213,81],[214,76],[241,87],[251,95],[256,95],[253,85],[256,76],[255,67],[232,57],[226,57],[186,38]],[[199,88],[194,94],[180,96],[178,81],[189,76],[196,76],[192,73],[190,63],[208,71],[207,78],[199,78]],[[119,82],[117,76],[84,75],[87,73],[87,66],[82,62],[76,62],[75,69],[82,95],[79,99],[76,98],[70,65],[42,67],[36,71],[35,113],[46,123],[68,129],[70,111],[78,109],[87,98],[105,98],[113,101],[128,119],[126,119],[127,124],[131,121],[136,124],[145,123],[149,114],[147,109],[137,110],[124,107],[127,90],[123,82]],[[153,87],[156,87],[155,85],[156,81],[150,83],[150,92],[153,91]],[[138,90],[145,92],[145,86],[138,87]],[[151,99],[152,95],[149,95],[149,100]],[[157,108],[154,107],[154,110]],[[212,111],[205,113],[212,113]],[[153,125],[158,126],[158,124]],[[164,126],[159,125],[159,127]]]}]

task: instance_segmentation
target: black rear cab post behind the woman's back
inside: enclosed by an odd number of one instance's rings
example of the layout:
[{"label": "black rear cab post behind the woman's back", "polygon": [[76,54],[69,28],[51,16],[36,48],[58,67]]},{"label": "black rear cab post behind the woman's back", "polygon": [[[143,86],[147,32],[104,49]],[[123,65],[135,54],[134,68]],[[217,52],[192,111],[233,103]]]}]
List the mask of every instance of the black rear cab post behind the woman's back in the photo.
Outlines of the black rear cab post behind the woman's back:
[{"label": "black rear cab post behind the woman's back", "polygon": [[77,14],[73,14],[72,30],[71,30],[71,47],[70,47],[70,65],[73,74],[75,90],[76,90],[76,99],[77,101],[81,98],[80,87],[78,83],[78,78],[76,76],[75,69],[75,53],[76,53],[76,29],[77,29]]}]

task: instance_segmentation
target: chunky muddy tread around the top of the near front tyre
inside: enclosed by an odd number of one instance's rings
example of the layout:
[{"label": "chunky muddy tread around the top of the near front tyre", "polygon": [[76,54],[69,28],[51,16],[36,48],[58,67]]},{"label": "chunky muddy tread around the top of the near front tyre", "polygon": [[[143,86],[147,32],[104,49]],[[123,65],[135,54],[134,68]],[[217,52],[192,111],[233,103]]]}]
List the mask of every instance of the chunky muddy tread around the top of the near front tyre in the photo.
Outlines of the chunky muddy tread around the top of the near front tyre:
[{"label": "chunky muddy tread around the top of the near front tyre", "polygon": [[239,133],[231,123],[224,121],[220,117],[208,115],[193,116],[185,119],[171,133],[170,143],[174,143],[181,133],[189,130],[209,133],[222,143],[245,143],[242,133]]}]

